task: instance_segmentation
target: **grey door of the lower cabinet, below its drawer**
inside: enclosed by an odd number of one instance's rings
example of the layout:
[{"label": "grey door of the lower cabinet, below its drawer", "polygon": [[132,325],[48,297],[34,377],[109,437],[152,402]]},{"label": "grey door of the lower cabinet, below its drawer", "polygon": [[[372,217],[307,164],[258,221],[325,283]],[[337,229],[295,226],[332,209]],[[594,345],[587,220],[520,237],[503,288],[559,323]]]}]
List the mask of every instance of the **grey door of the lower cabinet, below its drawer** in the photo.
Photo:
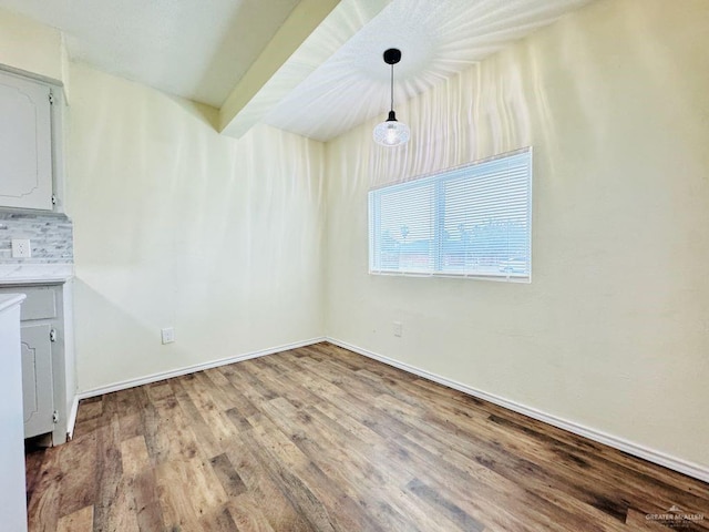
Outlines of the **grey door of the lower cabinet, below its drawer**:
[{"label": "grey door of the lower cabinet, below its drawer", "polygon": [[21,331],[25,438],[54,429],[51,330],[49,325],[29,325]]}]

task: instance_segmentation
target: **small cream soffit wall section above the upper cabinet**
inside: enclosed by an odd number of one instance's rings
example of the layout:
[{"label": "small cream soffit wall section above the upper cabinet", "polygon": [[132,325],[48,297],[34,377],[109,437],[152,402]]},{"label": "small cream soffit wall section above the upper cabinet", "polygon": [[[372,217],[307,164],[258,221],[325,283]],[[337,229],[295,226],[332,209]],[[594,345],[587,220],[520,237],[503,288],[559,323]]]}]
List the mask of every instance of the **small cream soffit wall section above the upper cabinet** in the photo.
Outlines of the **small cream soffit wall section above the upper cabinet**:
[{"label": "small cream soffit wall section above the upper cabinet", "polygon": [[0,9],[0,64],[61,81],[62,49],[59,30]]}]

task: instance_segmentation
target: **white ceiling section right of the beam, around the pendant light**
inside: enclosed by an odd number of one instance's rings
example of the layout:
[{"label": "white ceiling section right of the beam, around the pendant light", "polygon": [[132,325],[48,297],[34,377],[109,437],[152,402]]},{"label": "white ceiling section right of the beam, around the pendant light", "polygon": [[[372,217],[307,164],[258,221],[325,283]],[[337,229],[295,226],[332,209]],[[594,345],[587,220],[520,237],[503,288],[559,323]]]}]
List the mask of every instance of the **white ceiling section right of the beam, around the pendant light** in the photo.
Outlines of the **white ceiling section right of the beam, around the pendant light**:
[{"label": "white ceiling section right of the beam, around the pendant light", "polygon": [[394,66],[395,110],[397,102],[400,105],[589,1],[393,0],[332,50],[330,59],[282,99],[265,122],[328,141],[372,116],[383,121],[391,75],[382,59],[384,50],[402,52]]}]

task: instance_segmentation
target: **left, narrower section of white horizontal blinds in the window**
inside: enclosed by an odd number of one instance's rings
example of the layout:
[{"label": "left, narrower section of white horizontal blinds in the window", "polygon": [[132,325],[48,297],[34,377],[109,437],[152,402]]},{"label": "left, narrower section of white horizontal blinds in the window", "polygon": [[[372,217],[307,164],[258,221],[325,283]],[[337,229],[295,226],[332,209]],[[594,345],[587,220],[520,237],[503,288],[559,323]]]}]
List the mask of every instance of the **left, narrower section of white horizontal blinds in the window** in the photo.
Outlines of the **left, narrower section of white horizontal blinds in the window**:
[{"label": "left, narrower section of white horizontal blinds in the window", "polygon": [[[376,208],[371,209],[371,202]],[[430,273],[434,267],[434,185],[423,181],[370,193],[370,269]]]}]

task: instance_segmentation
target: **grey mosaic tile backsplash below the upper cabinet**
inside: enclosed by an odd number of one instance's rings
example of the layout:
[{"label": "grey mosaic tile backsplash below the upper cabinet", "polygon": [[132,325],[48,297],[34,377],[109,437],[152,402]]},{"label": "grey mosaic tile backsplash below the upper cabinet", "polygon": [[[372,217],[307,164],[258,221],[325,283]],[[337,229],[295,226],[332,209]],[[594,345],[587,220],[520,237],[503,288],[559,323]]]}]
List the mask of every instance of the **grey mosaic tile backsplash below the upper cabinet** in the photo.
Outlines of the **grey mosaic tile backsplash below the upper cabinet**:
[{"label": "grey mosaic tile backsplash below the upper cabinet", "polygon": [[[32,256],[12,258],[12,238],[29,238]],[[66,215],[0,212],[0,264],[70,264],[73,262],[73,225]]]}]

